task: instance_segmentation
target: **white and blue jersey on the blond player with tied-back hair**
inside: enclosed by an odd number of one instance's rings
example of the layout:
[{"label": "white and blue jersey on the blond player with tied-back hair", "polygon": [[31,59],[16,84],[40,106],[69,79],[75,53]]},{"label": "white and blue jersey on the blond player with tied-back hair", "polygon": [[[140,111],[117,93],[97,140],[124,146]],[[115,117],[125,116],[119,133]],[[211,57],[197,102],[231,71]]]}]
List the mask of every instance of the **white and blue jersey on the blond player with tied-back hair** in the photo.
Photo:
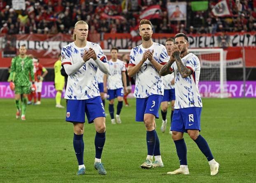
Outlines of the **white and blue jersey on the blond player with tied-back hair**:
[{"label": "white and blue jersey on the blond player with tied-back hair", "polygon": [[[84,48],[77,47],[74,42],[63,46],[61,50],[62,65],[64,64],[75,64],[83,61],[84,50],[92,48],[97,57],[104,63],[107,63],[107,59],[101,47],[98,44],[88,42]],[[65,92],[65,99],[70,100],[86,100],[93,97],[100,96],[97,72],[98,66],[95,61],[91,58],[84,65],[77,70],[71,76],[67,78],[67,88]]]}]

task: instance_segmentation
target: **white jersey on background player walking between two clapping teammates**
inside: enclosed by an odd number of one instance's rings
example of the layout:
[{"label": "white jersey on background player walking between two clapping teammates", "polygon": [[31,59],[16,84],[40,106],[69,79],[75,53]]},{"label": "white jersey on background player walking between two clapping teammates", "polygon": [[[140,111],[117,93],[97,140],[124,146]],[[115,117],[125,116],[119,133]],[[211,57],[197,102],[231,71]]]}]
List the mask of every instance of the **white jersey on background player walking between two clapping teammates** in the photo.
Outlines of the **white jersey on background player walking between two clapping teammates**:
[{"label": "white jersey on background player walking between two clapping teammates", "polygon": [[125,63],[119,59],[113,62],[112,59],[108,61],[109,73],[107,74],[107,89],[116,90],[123,88],[122,72],[126,72]]}]

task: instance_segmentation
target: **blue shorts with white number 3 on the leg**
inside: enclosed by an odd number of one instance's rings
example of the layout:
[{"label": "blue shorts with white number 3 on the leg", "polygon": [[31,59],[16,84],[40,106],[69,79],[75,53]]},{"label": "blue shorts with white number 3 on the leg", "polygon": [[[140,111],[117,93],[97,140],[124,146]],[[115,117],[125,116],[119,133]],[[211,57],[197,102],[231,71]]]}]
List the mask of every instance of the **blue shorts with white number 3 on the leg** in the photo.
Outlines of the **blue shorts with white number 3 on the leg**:
[{"label": "blue shorts with white number 3 on the leg", "polygon": [[158,109],[163,95],[150,95],[147,98],[136,98],[136,121],[144,121],[144,114],[153,114],[159,118]]}]

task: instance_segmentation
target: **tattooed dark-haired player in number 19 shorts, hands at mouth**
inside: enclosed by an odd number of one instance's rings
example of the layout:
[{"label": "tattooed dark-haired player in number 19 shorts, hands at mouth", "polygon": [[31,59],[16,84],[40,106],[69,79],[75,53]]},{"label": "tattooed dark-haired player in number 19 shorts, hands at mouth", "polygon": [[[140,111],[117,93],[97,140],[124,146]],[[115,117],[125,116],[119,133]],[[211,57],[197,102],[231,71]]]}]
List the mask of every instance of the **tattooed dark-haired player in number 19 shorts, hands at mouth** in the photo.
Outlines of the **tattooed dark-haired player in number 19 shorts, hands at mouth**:
[{"label": "tattooed dark-haired player in number 19 shorts, hands at mouth", "polygon": [[175,107],[172,116],[172,139],[174,140],[180,168],[167,174],[189,174],[184,132],[195,141],[209,162],[211,175],[219,171],[219,163],[213,158],[207,141],[199,134],[202,100],[198,90],[200,61],[188,52],[189,39],[184,33],[175,35],[175,45],[169,62],[160,71],[161,76],[175,74]]}]

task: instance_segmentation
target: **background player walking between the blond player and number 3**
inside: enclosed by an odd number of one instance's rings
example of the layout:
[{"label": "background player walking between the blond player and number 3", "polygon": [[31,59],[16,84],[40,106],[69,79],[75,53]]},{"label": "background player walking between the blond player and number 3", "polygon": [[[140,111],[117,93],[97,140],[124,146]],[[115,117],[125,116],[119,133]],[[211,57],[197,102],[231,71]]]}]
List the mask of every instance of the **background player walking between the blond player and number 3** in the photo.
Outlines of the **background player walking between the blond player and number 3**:
[{"label": "background player walking between the blond player and number 3", "polygon": [[[109,114],[111,123],[121,123],[120,113],[123,107],[123,94],[127,92],[126,86],[126,67],[123,61],[117,58],[118,49],[113,47],[111,50],[111,59],[108,61],[109,73],[104,75],[104,91],[107,92],[109,100]],[[122,82],[123,80],[123,82]],[[124,85],[124,88],[123,88]],[[124,89],[124,90],[123,90]],[[117,98],[116,122],[114,118],[114,99]]]}]

